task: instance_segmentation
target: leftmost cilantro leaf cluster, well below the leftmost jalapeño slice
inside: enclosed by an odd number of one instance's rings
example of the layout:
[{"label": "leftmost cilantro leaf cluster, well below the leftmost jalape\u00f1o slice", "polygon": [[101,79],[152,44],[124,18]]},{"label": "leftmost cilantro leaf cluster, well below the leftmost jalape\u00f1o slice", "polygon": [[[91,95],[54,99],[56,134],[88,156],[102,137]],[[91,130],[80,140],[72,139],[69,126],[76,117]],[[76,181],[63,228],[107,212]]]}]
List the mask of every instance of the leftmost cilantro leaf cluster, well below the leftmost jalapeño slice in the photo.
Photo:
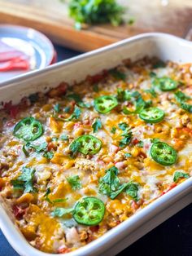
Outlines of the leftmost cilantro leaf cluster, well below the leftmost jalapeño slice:
[{"label": "leftmost cilantro leaf cluster, well below the leftmost jalape\u00f1o slice", "polygon": [[34,179],[35,170],[28,167],[22,168],[22,174],[20,174],[18,179],[11,181],[15,189],[24,189],[24,193],[35,192],[33,188],[33,179]]}]

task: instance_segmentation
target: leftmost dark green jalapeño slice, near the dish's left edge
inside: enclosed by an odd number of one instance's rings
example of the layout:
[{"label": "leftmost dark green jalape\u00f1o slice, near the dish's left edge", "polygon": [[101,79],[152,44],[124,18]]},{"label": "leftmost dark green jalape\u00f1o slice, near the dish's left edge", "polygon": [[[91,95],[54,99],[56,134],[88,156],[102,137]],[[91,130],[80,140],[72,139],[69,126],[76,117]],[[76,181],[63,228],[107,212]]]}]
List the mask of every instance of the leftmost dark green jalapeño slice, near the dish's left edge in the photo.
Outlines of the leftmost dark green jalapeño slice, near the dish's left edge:
[{"label": "leftmost dark green jalape\u00f1o slice, near the dish's left edge", "polygon": [[43,127],[34,117],[25,117],[15,125],[13,134],[19,139],[33,141],[43,134]]}]

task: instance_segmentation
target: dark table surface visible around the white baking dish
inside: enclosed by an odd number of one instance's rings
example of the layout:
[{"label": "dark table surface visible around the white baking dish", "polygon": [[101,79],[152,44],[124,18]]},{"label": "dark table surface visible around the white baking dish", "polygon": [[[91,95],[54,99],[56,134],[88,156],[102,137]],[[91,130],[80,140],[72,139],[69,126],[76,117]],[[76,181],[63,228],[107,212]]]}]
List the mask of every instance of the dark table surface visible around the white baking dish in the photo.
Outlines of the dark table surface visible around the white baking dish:
[{"label": "dark table surface visible around the white baking dish", "polygon": [[[55,48],[58,61],[80,54],[61,46],[55,46]],[[118,254],[118,256],[123,255],[192,256],[192,204]],[[0,232],[0,256],[18,256],[2,232]]]}]

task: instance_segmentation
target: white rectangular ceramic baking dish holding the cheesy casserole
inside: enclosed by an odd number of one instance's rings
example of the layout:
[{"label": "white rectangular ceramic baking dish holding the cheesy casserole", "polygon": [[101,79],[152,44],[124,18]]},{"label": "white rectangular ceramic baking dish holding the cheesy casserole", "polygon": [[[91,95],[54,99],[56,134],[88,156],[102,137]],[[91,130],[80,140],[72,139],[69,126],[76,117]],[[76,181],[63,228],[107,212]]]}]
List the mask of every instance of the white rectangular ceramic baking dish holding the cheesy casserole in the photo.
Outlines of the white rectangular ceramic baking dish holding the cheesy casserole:
[{"label": "white rectangular ceramic baking dish holding the cheesy casserole", "polygon": [[[146,55],[156,56],[164,61],[192,62],[192,43],[165,33],[142,34],[3,82],[0,84],[0,102],[12,100],[12,103],[16,104],[24,96],[37,91],[46,92],[58,86],[59,82],[68,82],[72,85],[73,82],[81,82],[88,74],[93,75],[103,69],[113,68],[124,59],[138,60]],[[2,198],[0,201],[0,227],[18,254],[55,256],[29,245],[15,226],[14,217],[7,209],[7,205]],[[98,240],[68,253],[68,256],[115,255],[191,202],[192,178],[159,197]]]}]

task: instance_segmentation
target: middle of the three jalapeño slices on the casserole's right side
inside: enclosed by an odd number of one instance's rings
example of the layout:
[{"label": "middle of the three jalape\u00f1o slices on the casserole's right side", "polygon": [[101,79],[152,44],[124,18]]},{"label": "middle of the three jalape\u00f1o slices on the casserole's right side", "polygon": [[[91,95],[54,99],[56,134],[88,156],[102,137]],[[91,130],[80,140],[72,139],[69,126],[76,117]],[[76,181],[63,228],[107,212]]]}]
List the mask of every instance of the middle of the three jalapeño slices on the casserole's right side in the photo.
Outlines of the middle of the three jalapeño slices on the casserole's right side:
[{"label": "middle of the three jalape\u00f1o slices on the casserole's right side", "polygon": [[164,119],[164,111],[160,108],[144,108],[139,117],[148,123],[157,123]]}]

